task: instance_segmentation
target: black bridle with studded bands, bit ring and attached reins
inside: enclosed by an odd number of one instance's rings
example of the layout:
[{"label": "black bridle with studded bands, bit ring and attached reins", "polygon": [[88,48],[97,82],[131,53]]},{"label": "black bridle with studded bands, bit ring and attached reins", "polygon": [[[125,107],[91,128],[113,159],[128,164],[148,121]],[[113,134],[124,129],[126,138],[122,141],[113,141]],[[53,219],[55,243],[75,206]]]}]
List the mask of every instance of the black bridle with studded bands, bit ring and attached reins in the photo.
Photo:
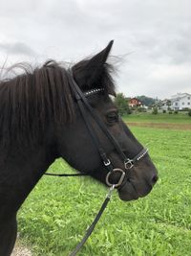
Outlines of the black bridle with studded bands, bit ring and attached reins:
[{"label": "black bridle with studded bands, bit ring and attached reins", "polygon": [[[85,236],[83,237],[83,239],[81,240],[81,242],[79,244],[77,244],[76,247],[74,248],[74,250],[71,252],[70,256],[74,256],[74,255],[76,255],[76,253],[79,251],[79,249],[82,247],[82,245],[85,244],[87,239],[92,234],[97,221],[100,219],[104,209],[106,208],[108,202],[110,201],[112,192],[114,191],[115,188],[119,189],[123,185],[125,176],[127,175],[127,172],[123,171],[122,169],[113,167],[110,158],[107,156],[107,153],[104,151],[104,149],[102,148],[102,146],[99,142],[99,139],[96,135],[95,129],[93,128],[93,126],[87,119],[87,111],[91,114],[93,119],[96,121],[96,124],[98,125],[98,127],[101,128],[101,130],[104,132],[104,134],[108,137],[110,142],[115,147],[118,155],[123,160],[125,170],[132,169],[134,167],[135,163],[137,163],[141,158],[143,158],[147,154],[148,150],[143,148],[141,151],[138,152],[138,154],[135,157],[128,158],[125,155],[125,153],[122,151],[120,146],[118,145],[115,137],[110,133],[108,128],[105,126],[105,124],[99,119],[99,117],[96,115],[96,112],[94,111],[93,107],[89,104],[89,102],[87,100],[87,98],[89,96],[97,94],[97,93],[101,93],[104,91],[104,89],[96,88],[96,89],[92,89],[92,90],[89,90],[86,92],[82,92],[81,89],[79,88],[79,86],[77,85],[76,81],[74,81],[74,76],[73,76],[73,72],[71,69],[69,70],[69,73],[68,73],[68,79],[70,80],[71,90],[74,94],[74,99],[78,105],[78,108],[79,108],[81,116],[84,120],[84,123],[94,141],[96,150],[97,150],[98,154],[100,155],[103,165],[108,170],[108,174],[106,175],[105,182],[109,186],[109,192],[108,192],[105,200],[103,201],[99,212],[96,215],[96,219],[93,221],[91,226],[88,228],[88,230],[87,230]],[[116,173],[119,174],[119,178],[115,183],[112,183],[111,176]],[[54,175],[54,174],[45,174],[45,175]],[[90,175],[90,174],[82,173],[82,174],[74,174],[74,175],[56,175],[56,176],[78,176],[78,175]]]}]

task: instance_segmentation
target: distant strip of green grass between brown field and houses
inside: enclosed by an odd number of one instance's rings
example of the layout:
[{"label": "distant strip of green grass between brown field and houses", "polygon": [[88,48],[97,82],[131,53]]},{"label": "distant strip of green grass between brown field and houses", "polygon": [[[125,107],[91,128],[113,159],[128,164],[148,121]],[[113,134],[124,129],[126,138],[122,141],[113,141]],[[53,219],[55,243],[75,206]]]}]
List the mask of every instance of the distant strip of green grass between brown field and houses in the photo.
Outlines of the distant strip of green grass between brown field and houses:
[{"label": "distant strip of green grass between brown field and houses", "polygon": [[168,114],[159,113],[134,113],[123,118],[125,122],[142,122],[142,123],[180,123],[191,124],[191,117],[187,113]]}]

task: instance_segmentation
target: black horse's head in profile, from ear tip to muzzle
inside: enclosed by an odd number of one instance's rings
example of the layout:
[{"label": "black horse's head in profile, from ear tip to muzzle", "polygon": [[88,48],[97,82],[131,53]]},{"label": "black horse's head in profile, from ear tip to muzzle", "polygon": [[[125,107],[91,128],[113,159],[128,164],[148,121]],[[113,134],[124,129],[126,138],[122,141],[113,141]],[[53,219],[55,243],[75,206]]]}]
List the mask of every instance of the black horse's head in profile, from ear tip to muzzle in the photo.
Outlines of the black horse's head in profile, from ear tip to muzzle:
[{"label": "black horse's head in profile, from ear tip to muzzle", "polygon": [[[57,128],[58,152],[76,170],[89,173],[105,184],[116,184],[121,175],[125,174],[118,186],[118,194],[123,200],[132,200],[146,196],[157,182],[158,175],[150,156],[146,151],[142,151],[143,147],[118,116],[117,106],[111,100],[110,95],[115,96],[115,87],[106,60],[112,43],[95,57],[83,60],[73,67],[74,81],[85,93],[87,102],[99,122],[80,100],[85,111],[84,120],[75,99],[75,121]],[[74,86],[74,81],[71,81],[71,86]],[[89,128],[86,122],[90,125]],[[100,123],[108,132],[101,128]],[[90,129],[96,134],[95,138]],[[108,176],[110,171],[107,159],[104,165],[104,159],[97,149],[99,147],[106,152],[113,168],[121,171]],[[142,155],[139,152],[142,152]],[[124,157],[126,161],[134,161],[125,165]]]}]

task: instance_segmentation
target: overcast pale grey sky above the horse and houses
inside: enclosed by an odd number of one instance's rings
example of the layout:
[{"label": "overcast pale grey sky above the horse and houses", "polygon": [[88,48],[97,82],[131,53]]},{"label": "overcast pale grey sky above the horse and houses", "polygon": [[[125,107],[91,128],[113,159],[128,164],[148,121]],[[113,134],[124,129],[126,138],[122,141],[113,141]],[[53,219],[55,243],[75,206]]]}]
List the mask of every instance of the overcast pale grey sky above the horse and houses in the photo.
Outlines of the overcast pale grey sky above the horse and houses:
[{"label": "overcast pale grey sky above the horse and houses", "polygon": [[1,0],[0,66],[74,63],[114,39],[117,92],[191,93],[190,10],[190,0]]}]

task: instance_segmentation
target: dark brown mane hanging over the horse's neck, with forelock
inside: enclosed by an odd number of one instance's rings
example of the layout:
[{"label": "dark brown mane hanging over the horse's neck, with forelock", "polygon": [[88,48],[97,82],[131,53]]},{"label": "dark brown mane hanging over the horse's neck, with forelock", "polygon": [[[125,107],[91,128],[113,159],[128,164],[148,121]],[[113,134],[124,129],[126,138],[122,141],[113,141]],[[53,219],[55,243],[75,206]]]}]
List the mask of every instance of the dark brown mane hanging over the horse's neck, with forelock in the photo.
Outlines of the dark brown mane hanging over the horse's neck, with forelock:
[{"label": "dark brown mane hanging over the horse's neck, with forelock", "polygon": [[[86,60],[74,66],[80,68]],[[14,65],[12,69],[20,67]],[[50,122],[74,120],[74,99],[67,69],[53,60],[33,70],[22,64],[24,73],[0,81],[0,146],[12,141],[29,143],[42,137]],[[114,87],[109,65],[105,65],[99,86]],[[83,88],[82,88],[83,89]],[[111,89],[111,88],[110,88]]]}]

